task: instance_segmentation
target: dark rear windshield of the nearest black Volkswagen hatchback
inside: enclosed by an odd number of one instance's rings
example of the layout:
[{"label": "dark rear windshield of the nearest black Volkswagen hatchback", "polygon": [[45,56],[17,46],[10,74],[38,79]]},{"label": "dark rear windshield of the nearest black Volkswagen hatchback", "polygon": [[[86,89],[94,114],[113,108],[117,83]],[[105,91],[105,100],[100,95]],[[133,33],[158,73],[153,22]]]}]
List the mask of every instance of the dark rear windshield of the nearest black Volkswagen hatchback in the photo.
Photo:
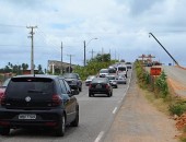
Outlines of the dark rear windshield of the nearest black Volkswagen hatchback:
[{"label": "dark rear windshield of the nearest black Volkswagen hatchback", "polygon": [[10,81],[7,93],[16,98],[30,95],[37,98],[49,97],[54,94],[54,81],[39,78],[15,78]]}]

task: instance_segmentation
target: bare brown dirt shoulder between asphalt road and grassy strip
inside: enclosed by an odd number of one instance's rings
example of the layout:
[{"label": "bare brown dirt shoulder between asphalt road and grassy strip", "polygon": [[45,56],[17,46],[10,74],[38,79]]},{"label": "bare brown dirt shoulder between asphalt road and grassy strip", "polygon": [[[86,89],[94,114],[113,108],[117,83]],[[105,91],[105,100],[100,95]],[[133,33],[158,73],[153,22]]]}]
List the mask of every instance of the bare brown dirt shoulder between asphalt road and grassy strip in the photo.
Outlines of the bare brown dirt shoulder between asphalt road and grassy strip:
[{"label": "bare brown dirt shoulder between asphalt road and grassy strip", "polygon": [[104,142],[177,142],[175,121],[154,108],[132,75],[128,94]]}]

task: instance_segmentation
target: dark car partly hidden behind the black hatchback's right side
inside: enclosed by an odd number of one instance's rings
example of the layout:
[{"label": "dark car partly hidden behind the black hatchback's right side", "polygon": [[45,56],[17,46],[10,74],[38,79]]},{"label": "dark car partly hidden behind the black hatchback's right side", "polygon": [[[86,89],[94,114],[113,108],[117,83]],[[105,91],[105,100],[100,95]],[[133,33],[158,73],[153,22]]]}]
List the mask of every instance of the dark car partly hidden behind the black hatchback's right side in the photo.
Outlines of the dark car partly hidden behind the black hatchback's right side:
[{"label": "dark car partly hidden behind the black hatchback's right side", "polygon": [[82,91],[82,81],[78,73],[65,73],[63,78],[71,88],[75,90],[78,93]]}]

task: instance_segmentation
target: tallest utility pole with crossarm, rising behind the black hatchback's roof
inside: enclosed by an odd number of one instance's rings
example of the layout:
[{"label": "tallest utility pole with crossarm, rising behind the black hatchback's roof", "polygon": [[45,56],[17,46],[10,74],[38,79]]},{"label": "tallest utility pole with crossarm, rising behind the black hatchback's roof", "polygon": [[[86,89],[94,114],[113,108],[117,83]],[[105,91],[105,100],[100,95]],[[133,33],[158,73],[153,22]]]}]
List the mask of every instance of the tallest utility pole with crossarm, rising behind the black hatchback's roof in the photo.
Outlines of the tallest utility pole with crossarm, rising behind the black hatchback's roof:
[{"label": "tallest utility pole with crossarm, rising behind the black hatchback's roof", "polygon": [[37,28],[37,26],[27,26],[27,28],[31,28],[31,74],[34,74],[34,28]]}]

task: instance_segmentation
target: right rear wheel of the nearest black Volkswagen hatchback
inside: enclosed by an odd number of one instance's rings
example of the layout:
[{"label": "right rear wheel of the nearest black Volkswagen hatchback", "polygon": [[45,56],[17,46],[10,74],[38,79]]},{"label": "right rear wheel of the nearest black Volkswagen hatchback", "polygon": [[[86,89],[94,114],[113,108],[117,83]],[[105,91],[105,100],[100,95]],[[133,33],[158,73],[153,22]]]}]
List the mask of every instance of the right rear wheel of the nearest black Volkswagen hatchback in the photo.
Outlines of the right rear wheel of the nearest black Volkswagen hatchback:
[{"label": "right rear wheel of the nearest black Volkswagen hatchback", "polygon": [[65,132],[66,132],[66,118],[65,115],[62,115],[61,121],[59,122],[59,126],[56,129],[56,135],[63,137]]}]

